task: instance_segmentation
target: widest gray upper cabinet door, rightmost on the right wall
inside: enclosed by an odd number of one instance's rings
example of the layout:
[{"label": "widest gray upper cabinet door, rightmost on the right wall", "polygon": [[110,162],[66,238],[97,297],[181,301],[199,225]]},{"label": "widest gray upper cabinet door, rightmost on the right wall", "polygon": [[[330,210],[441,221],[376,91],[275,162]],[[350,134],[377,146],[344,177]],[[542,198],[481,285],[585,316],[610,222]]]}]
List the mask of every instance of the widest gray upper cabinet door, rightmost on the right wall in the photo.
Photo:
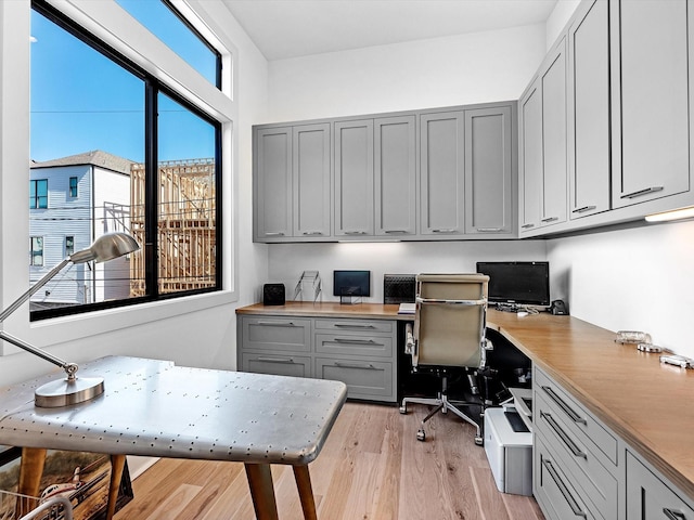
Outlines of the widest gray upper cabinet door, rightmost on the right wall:
[{"label": "widest gray upper cabinet door, rightmost on the right wall", "polygon": [[686,0],[613,1],[613,207],[690,190]]}]

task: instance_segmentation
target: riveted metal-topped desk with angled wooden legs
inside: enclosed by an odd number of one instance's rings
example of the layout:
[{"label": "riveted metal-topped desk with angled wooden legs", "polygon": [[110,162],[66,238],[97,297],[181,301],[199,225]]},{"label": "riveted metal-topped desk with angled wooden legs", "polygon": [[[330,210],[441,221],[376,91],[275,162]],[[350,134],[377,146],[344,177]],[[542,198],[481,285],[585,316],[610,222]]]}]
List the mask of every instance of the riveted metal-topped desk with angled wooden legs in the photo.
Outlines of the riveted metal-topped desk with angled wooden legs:
[{"label": "riveted metal-topped desk with angled wooden legs", "polygon": [[34,405],[42,376],[0,389],[0,444],[22,446],[21,489],[38,492],[46,450],[112,456],[108,518],[126,455],[244,463],[256,516],[277,519],[271,464],[294,468],[304,515],[316,518],[308,464],[344,404],[338,381],[175,366],[108,356],[79,375],[101,376],[105,393],[61,407]]}]

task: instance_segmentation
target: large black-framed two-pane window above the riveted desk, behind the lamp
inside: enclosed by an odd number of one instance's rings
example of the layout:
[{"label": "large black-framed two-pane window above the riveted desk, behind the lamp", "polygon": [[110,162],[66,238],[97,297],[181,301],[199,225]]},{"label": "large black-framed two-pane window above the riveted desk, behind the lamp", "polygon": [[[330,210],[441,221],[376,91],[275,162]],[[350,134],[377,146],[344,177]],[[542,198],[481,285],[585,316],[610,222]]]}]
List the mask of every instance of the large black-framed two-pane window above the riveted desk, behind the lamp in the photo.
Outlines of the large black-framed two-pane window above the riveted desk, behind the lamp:
[{"label": "large black-framed two-pane window above the riveted desk, behind the lamp", "polygon": [[65,237],[66,256],[112,231],[141,249],[72,265],[51,281],[51,307],[31,300],[31,320],[221,289],[221,122],[42,0],[33,6],[31,169],[68,193],[29,232]]}]

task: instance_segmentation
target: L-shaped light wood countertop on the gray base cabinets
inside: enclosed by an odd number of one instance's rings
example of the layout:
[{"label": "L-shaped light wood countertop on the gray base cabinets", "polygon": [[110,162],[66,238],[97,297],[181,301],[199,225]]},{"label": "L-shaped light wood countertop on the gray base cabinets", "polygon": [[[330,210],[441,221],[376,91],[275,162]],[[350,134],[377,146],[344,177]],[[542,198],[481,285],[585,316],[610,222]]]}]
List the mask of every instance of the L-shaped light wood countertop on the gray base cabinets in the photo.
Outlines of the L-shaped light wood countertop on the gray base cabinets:
[{"label": "L-shaped light wood countertop on the gray base cabinets", "polygon": [[[239,314],[412,320],[398,306],[299,303]],[[573,316],[517,316],[489,310],[487,326],[513,342],[694,500],[694,369],[661,365],[659,354],[615,342],[614,332]]]}]

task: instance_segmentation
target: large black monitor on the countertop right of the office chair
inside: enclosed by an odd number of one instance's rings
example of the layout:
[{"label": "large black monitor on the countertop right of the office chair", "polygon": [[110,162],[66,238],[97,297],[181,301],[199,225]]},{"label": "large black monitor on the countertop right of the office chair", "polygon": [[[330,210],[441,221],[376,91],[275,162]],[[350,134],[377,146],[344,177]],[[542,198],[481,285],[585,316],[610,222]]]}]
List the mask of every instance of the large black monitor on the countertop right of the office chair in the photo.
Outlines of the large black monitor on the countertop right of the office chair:
[{"label": "large black monitor on the countertop right of the office chair", "polygon": [[489,276],[490,303],[550,304],[549,262],[477,262],[477,272]]}]

